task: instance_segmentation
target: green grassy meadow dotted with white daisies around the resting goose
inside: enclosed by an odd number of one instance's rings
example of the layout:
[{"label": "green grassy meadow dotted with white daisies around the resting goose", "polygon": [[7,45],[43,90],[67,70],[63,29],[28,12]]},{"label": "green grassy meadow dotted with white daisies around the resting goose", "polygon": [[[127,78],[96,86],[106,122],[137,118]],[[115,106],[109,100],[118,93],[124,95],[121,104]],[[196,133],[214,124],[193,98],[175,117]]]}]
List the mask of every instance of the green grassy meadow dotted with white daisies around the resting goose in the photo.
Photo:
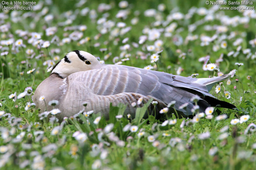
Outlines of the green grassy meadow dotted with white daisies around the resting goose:
[{"label": "green grassy meadow dotted with white daisies around the resting goose", "polygon": [[[256,13],[245,6],[45,0],[31,11],[1,11],[0,168],[256,169]],[[76,49],[101,63],[185,77],[236,71],[211,93],[237,109],[195,108],[193,119],[163,114],[160,120],[142,119],[148,104],[134,120],[124,105],[111,107],[107,121],[86,107],[63,121],[47,118],[50,110],[38,114],[37,85]]]}]

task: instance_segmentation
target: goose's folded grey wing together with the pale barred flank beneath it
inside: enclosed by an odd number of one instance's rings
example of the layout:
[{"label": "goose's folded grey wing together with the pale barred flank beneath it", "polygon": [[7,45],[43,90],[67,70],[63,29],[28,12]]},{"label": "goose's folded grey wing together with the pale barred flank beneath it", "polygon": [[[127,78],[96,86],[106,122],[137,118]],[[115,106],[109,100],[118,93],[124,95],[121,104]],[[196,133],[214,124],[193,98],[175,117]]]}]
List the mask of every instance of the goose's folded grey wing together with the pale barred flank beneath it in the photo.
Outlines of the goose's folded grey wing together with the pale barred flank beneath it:
[{"label": "goose's folded grey wing together with the pale barred flank beneath it", "polygon": [[[67,90],[69,94],[66,96],[76,94],[77,96],[72,99],[76,106],[81,106],[84,101],[90,100],[94,108],[98,106],[104,109],[109,105],[109,101],[131,104],[131,101],[135,101],[140,96],[151,96],[162,105],[176,100],[174,108],[185,115],[190,115],[193,107],[190,99],[195,94],[201,97],[204,95],[214,97],[207,91],[205,85],[196,83],[196,80],[196,78],[174,76],[124,65],[105,65],[99,69],[69,75]],[[179,109],[186,102],[189,103],[186,110]],[[72,105],[72,102],[70,104]],[[204,104],[207,105],[207,102],[204,101]]]}]

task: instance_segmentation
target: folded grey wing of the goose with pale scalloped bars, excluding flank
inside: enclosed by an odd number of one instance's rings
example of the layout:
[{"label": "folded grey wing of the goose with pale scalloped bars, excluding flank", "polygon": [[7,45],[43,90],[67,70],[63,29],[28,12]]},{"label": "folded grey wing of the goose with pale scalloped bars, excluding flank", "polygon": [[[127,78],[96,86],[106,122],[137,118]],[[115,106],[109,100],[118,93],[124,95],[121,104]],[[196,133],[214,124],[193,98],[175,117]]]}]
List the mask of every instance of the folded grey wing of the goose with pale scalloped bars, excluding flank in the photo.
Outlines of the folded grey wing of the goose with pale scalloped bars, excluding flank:
[{"label": "folded grey wing of the goose with pale scalloped bars, excluding flank", "polygon": [[[191,114],[193,103],[190,99],[195,94],[182,88],[213,97],[205,85],[195,83],[191,78],[124,65],[105,65],[99,69],[77,72],[70,76],[78,82],[85,83],[97,95],[132,92],[153,96],[166,104],[176,100],[174,108],[187,114]],[[179,106],[186,102],[189,103],[187,109],[179,109]]]}]

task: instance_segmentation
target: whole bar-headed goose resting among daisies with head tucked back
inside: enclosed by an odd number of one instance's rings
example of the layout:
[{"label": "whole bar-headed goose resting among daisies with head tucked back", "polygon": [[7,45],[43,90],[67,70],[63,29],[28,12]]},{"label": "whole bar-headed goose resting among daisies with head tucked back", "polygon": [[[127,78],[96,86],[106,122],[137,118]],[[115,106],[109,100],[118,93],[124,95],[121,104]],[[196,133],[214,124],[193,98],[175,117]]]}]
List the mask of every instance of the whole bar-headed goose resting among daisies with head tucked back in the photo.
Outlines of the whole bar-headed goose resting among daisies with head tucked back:
[{"label": "whole bar-headed goose resting among daisies with head tucked back", "polygon": [[[38,85],[34,102],[43,112],[45,103],[58,100],[59,105],[56,107],[61,111],[58,114],[60,119],[81,111],[85,102],[87,111],[101,112],[106,116],[110,103],[116,106],[121,102],[127,104],[125,113],[134,116],[135,108],[132,103],[141,97],[145,101],[150,98],[158,101],[159,109],[175,100],[173,108],[183,115],[192,115],[194,103],[191,98],[195,95],[200,97],[198,105],[201,111],[217,104],[235,108],[209,93],[214,84],[230,76],[231,74],[216,78],[187,78],[124,65],[101,65],[93,55],[76,50],[60,60],[53,67],[51,75]],[[40,96],[45,96],[45,103],[39,101]],[[184,103],[188,103],[188,106],[179,108]],[[50,109],[52,107],[47,106],[47,110]]]}]

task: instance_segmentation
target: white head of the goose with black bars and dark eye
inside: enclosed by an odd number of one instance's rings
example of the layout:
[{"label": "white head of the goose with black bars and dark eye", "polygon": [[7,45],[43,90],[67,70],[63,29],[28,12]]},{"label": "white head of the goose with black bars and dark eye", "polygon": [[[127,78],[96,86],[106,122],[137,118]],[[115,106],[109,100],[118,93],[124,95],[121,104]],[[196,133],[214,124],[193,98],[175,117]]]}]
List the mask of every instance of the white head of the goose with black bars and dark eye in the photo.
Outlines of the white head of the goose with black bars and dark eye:
[{"label": "white head of the goose with black bars and dark eye", "polygon": [[75,50],[68,53],[62,58],[53,68],[51,74],[58,74],[62,78],[68,77],[68,75],[78,72],[87,71],[100,68],[102,65],[100,62],[85,51]]}]

